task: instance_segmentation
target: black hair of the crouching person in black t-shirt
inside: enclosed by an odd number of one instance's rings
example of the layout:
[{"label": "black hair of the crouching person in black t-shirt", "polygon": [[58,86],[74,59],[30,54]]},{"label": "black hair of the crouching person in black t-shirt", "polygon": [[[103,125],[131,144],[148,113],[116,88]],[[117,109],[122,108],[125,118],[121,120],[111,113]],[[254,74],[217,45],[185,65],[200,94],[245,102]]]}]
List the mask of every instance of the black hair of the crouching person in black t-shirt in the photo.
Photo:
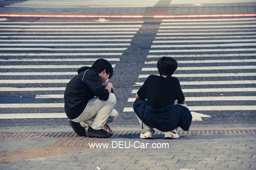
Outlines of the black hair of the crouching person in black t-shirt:
[{"label": "black hair of the crouching person in black t-shirt", "polygon": [[172,57],[161,57],[157,62],[157,69],[161,75],[172,76],[174,71],[178,68],[177,61]]}]

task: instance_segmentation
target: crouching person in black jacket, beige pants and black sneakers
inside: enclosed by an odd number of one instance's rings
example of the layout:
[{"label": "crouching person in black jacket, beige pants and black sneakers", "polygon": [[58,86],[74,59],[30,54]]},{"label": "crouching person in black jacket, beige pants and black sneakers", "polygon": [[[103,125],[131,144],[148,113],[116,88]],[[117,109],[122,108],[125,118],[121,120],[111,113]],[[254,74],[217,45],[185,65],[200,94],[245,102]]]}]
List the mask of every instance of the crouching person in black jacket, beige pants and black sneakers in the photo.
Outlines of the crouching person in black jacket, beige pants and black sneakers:
[{"label": "crouching person in black jacket, beige pants and black sneakers", "polygon": [[114,109],[116,97],[111,83],[102,84],[112,77],[112,65],[98,59],[92,67],[84,66],[77,72],[64,93],[64,108],[71,127],[78,136],[111,137],[113,132],[108,123],[118,116]]}]

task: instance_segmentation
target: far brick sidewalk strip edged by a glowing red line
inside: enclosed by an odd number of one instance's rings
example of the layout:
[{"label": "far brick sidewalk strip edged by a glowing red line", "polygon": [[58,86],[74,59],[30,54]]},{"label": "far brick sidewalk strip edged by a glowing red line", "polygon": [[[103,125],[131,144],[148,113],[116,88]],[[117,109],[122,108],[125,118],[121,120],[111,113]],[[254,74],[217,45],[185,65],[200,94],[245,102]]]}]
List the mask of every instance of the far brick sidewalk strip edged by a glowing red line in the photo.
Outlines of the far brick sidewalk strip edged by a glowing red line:
[{"label": "far brick sidewalk strip edged by a glowing red line", "polygon": [[228,15],[255,14],[256,2],[247,4],[204,4],[202,6],[172,6],[166,4],[154,7],[100,7],[100,8],[0,8],[1,16],[8,15],[58,15],[58,16],[181,16],[181,15]]}]

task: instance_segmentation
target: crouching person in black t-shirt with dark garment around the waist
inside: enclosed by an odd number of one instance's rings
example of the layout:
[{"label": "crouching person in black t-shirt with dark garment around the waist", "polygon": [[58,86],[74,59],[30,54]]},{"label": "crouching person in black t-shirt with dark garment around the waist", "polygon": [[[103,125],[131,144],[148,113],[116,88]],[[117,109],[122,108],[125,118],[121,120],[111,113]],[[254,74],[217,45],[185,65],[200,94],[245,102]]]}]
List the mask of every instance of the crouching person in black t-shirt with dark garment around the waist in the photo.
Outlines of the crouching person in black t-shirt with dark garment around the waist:
[{"label": "crouching person in black t-shirt with dark garment around the waist", "polygon": [[153,128],[163,131],[165,139],[179,138],[178,127],[189,129],[192,115],[185,104],[180,81],[172,77],[177,67],[172,57],[160,58],[157,62],[160,76],[150,75],[137,92],[133,109],[142,128],[140,138],[153,139]]}]

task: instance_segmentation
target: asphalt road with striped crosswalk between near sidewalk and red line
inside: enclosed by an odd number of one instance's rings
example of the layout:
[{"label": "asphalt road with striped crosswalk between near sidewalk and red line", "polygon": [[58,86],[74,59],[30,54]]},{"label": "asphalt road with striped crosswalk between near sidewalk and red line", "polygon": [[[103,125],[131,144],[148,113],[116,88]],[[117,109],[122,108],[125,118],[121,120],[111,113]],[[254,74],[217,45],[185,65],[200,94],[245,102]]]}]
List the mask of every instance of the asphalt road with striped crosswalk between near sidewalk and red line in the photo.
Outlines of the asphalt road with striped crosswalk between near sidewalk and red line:
[{"label": "asphalt road with striped crosswalk between near sidewalk and red line", "polygon": [[146,77],[158,74],[161,56],[179,63],[174,76],[193,112],[192,128],[254,127],[255,23],[253,17],[2,19],[0,114],[11,117],[1,116],[0,131],[71,131],[67,118],[17,116],[63,115],[66,83],[96,58],[114,65],[119,116],[112,127],[139,128],[132,100]]}]

